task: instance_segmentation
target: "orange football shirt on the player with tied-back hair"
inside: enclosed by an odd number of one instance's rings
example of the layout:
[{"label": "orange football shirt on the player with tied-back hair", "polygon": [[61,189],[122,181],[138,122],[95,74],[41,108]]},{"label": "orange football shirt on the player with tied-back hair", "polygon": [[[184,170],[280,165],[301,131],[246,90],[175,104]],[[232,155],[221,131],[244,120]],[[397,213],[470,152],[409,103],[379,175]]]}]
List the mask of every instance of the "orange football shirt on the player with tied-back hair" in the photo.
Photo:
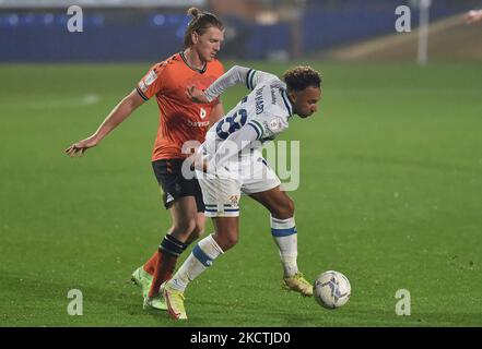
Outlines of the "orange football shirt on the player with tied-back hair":
[{"label": "orange football shirt on the player with tied-back hair", "polygon": [[186,88],[195,85],[208,88],[224,74],[223,64],[213,60],[202,71],[190,68],[184,55],[176,53],[154,64],[138,83],[139,95],[148,100],[155,96],[160,109],[160,123],[152,160],[183,159],[183,145],[187,141],[204,142],[209,118],[219,100],[196,104],[186,96]]}]

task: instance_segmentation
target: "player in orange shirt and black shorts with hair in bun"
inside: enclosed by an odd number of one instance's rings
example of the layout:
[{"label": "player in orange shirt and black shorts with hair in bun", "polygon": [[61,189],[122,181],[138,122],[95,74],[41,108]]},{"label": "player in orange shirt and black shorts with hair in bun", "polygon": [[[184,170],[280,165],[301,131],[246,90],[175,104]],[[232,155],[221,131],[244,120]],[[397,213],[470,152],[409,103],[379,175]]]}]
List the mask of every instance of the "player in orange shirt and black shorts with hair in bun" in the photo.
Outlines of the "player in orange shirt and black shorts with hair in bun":
[{"label": "player in orange shirt and black shorts with hair in bun", "polygon": [[144,308],[160,310],[166,309],[158,292],[161,284],[171,278],[178,256],[203,232],[205,221],[197,179],[181,174],[183,161],[190,155],[183,153],[183,145],[188,141],[202,143],[209,125],[224,112],[219,99],[198,105],[186,96],[187,86],[193,84],[205,89],[224,73],[223,65],[215,59],[224,39],[222,22],[214,14],[196,8],[189,9],[188,14],[192,20],[185,34],[185,50],[154,64],[93,135],[66,149],[70,156],[82,155],[155,96],[160,125],[152,166],[173,225],[154,255],[134,270],[132,280],[142,288]]}]

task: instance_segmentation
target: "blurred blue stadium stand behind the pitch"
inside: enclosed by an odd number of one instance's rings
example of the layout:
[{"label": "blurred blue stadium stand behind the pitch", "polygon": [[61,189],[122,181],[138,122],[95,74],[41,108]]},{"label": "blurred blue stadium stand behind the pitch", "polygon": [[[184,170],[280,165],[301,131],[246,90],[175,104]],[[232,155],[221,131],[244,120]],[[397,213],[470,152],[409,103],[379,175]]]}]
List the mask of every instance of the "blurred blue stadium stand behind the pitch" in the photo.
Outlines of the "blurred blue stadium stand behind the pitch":
[{"label": "blurred blue stadium stand behind the pitch", "polygon": [[[0,0],[0,61],[153,61],[181,48],[190,5],[225,20],[221,58],[296,59],[393,34],[403,3],[410,1]],[[71,4],[83,9],[82,33],[67,29]],[[482,1],[434,0],[431,21],[477,7]],[[413,9],[414,27],[418,19]]]}]

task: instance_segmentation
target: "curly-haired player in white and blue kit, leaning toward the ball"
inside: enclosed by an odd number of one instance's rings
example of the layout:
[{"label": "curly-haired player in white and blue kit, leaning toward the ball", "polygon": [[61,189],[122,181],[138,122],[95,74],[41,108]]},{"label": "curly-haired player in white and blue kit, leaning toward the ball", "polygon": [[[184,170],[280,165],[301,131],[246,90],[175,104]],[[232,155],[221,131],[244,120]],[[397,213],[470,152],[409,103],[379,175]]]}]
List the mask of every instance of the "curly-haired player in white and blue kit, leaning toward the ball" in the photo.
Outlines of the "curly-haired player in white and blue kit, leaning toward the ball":
[{"label": "curly-haired player in white and blue kit, leaning toward the ball", "polygon": [[[184,291],[222,253],[233,248],[239,236],[239,196],[247,194],[271,214],[271,233],[279,248],[285,288],[313,294],[313,286],[299,273],[294,203],[282,191],[274,171],[262,158],[260,147],[289,128],[295,116],[307,118],[317,111],[321,77],[309,67],[297,67],[278,76],[244,67],[233,67],[205,92],[189,87],[198,103],[218,98],[226,88],[246,84],[251,91],[208,132],[198,151],[197,177],[215,232],[199,241],[174,277],[161,286],[169,315],[187,318]],[[246,170],[248,169],[248,170]]]}]

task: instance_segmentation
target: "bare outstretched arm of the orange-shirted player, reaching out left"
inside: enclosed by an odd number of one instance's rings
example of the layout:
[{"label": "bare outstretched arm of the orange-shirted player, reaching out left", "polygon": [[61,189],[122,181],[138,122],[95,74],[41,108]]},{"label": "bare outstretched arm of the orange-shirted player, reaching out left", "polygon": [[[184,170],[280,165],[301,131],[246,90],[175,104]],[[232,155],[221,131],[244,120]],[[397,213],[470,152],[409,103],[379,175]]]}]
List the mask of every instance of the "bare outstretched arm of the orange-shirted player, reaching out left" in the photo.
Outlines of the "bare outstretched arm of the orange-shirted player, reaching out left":
[{"label": "bare outstretched arm of the orange-shirted player, reaching out left", "polygon": [[86,149],[96,146],[110,131],[126,120],[132,113],[132,111],[134,111],[143,103],[144,99],[142,99],[139,93],[133,89],[110,111],[93,135],[85,140],[73,143],[64,152],[71,157],[77,155],[82,156]]}]

